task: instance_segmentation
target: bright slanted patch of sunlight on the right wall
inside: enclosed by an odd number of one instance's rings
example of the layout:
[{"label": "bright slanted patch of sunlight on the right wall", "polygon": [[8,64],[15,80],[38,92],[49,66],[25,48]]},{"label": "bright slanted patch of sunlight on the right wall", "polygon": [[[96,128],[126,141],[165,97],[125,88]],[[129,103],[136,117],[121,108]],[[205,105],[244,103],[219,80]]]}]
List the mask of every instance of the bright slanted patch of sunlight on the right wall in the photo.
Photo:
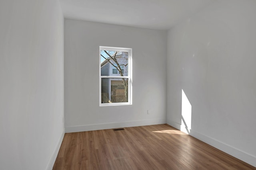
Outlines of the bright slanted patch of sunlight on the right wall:
[{"label": "bright slanted patch of sunlight on the right wall", "polygon": [[190,134],[191,116],[192,116],[192,106],[191,106],[184,90],[182,89],[180,130],[187,133],[187,134]]}]

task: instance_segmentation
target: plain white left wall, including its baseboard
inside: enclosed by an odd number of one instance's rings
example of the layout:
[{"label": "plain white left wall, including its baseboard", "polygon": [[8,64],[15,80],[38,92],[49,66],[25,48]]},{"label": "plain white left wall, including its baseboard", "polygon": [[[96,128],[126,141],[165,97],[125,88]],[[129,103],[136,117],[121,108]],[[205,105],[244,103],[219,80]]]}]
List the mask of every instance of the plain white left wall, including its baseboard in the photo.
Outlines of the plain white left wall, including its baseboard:
[{"label": "plain white left wall, including its baseboard", "polygon": [[0,1],[0,169],[51,169],[64,134],[57,0]]}]

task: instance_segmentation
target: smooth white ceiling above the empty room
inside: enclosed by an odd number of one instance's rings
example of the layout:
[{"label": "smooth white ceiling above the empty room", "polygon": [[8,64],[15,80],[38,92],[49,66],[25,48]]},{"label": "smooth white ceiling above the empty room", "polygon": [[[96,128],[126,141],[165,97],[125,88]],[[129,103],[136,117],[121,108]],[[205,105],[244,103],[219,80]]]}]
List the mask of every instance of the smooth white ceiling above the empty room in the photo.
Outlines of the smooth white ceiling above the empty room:
[{"label": "smooth white ceiling above the empty room", "polygon": [[214,0],[60,0],[65,18],[170,29]]}]

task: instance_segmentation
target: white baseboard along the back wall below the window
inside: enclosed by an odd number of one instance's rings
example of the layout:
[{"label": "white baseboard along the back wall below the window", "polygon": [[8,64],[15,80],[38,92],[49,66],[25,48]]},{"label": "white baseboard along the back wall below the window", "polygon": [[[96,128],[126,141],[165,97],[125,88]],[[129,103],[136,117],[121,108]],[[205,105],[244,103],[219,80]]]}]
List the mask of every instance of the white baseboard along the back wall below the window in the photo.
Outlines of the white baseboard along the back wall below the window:
[{"label": "white baseboard along the back wall below the window", "polygon": [[164,123],[166,123],[166,119],[151,119],[151,120],[126,121],[126,122],[95,124],[95,125],[70,126],[70,127],[65,127],[65,130],[66,130],[66,133],[71,133],[71,132],[95,131],[95,130],[102,130],[102,129],[113,129],[113,128],[120,128],[120,127],[157,125],[157,124],[164,124]]}]

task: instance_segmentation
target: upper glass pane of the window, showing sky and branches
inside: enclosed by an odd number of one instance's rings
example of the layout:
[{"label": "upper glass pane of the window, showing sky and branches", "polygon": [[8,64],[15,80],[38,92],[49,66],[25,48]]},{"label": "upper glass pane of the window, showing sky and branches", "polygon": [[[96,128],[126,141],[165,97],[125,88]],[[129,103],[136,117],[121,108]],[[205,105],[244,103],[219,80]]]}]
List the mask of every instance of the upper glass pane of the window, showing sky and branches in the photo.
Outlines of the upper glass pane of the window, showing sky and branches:
[{"label": "upper glass pane of the window, showing sky and branches", "polygon": [[100,62],[101,76],[128,76],[127,52],[101,50]]}]

